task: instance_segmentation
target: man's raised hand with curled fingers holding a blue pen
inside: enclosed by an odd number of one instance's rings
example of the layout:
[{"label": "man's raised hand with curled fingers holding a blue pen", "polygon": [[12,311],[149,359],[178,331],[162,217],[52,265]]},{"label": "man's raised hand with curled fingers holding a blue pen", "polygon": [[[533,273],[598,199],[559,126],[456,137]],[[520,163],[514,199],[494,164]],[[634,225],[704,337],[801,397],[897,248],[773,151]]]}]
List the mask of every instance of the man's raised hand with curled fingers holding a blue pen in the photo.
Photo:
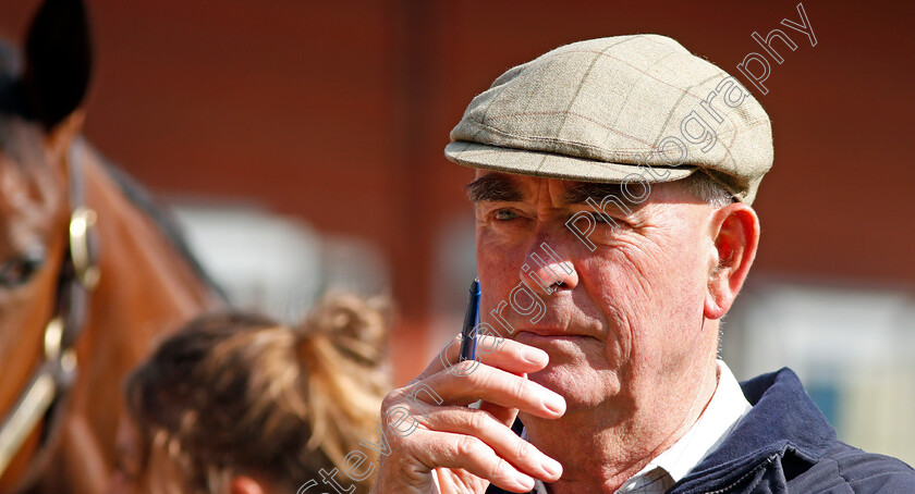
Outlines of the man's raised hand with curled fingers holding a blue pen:
[{"label": "man's raised hand with curled fingers holding a blue pen", "polygon": [[[511,430],[520,409],[553,419],[565,412],[562,396],[527,380],[526,373],[545,368],[549,357],[517,342],[499,342],[479,362],[457,363],[460,345],[451,345],[418,378],[385,398],[380,444],[387,440],[388,447],[373,493],[434,493],[432,476],[443,494],[481,494],[490,482],[528,492],[533,478],[560,478],[558,461]],[[486,343],[495,339],[481,337],[480,346]],[[467,407],[478,399],[479,409]]]}]

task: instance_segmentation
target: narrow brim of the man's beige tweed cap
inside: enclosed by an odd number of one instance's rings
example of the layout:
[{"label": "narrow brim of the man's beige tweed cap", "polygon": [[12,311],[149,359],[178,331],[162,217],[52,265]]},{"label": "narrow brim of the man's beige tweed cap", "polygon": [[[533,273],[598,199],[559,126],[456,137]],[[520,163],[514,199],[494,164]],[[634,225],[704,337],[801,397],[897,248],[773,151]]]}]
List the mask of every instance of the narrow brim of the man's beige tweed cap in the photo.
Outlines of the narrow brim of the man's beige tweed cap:
[{"label": "narrow brim of the man's beige tweed cap", "polygon": [[479,143],[459,140],[444,148],[449,160],[464,166],[513,173],[517,175],[542,176],[580,182],[622,183],[636,176],[649,183],[673,182],[690,176],[696,166],[650,166],[631,163],[609,163],[606,161],[575,158],[553,152],[529,151],[526,149],[502,148]]}]

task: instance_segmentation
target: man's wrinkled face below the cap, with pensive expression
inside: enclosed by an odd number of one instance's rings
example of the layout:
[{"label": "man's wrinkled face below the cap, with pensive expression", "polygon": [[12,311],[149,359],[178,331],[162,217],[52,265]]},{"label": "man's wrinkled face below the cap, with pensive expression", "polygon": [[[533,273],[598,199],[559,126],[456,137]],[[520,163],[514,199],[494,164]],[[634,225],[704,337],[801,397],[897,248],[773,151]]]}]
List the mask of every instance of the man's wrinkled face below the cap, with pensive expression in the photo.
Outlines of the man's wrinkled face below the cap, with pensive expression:
[{"label": "man's wrinkled face below the cap, with pensive expression", "polygon": [[[481,318],[503,336],[549,354],[549,366],[530,379],[565,397],[566,416],[608,406],[607,419],[614,420],[613,410],[692,395],[717,345],[718,324],[704,318],[717,260],[710,206],[676,184],[652,184],[647,199],[629,205],[631,213],[608,202],[610,219],[598,217],[588,236],[591,250],[566,221],[594,211],[585,197],[596,194],[590,197],[600,203],[614,186],[487,171],[477,171],[474,184],[468,190],[476,209]],[[550,264],[562,284],[548,293],[532,272],[551,282]],[[536,322],[534,309],[523,316],[511,306],[521,282],[545,306]],[[517,291],[516,298],[517,307],[530,305]],[[502,300],[511,334],[491,313]]]}]

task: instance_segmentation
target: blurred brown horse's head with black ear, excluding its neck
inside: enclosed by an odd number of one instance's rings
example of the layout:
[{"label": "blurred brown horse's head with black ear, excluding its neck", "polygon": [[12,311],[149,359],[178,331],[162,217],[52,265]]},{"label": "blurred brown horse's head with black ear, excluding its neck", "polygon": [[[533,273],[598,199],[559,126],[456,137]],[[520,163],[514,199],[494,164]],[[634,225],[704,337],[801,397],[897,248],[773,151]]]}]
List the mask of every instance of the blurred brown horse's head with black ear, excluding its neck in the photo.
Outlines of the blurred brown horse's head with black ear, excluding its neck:
[{"label": "blurred brown horse's head with black ear, excluding its neck", "polygon": [[[0,417],[46,353],[41,330],[58,302],[49,294],[58,291],[69,245],[66,152],[83,122],[89,45],[82,3],[51,0],[33,21],[24,60],[0,46]],[[39,435],[36,429],[25,440],[0,476],[0,491],[19,480]]]}]

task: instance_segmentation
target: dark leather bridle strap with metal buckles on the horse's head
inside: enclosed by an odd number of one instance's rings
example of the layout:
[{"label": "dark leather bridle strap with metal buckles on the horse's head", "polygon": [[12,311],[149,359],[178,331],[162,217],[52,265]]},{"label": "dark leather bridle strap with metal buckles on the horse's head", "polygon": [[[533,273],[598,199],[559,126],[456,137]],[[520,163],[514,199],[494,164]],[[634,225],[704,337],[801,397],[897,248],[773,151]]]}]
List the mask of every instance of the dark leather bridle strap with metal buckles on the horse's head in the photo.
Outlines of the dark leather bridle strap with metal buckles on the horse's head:
[{"label": "dark leather bridle strap with metal buckles on the horse's head", "polygon": [[63,422],[64,397],[77,372],[76,342],[88,312],[89,293],[98,285],[97,239],[93,230],[97,215],[85,205],[83,175],[77,153],[84,144],[77,138],[68,153],[70,175],[70,223],[68,247],[58,275],[54,312],[45,326],[44,359],[35,366],[25,391],[0,424],[0,477],[35,428],[47,420],[36,459],[13,492],[29,487],[44,471],[54,449]]}]

